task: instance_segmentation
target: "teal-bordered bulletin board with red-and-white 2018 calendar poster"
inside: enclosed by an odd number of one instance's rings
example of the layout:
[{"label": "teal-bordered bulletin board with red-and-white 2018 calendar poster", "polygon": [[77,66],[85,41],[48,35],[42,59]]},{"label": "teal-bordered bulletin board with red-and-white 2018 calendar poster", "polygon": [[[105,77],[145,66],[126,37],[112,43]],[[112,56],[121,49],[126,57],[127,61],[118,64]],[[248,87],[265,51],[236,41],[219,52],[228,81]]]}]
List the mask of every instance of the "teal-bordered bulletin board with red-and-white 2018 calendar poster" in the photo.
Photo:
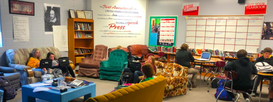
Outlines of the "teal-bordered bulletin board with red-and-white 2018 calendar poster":
[{"label": "teal-bordered bulletin board with red-and-white 2018 calendar poster", "polygon": [[149,46],[175,46],[178,16],[150,16]]}]

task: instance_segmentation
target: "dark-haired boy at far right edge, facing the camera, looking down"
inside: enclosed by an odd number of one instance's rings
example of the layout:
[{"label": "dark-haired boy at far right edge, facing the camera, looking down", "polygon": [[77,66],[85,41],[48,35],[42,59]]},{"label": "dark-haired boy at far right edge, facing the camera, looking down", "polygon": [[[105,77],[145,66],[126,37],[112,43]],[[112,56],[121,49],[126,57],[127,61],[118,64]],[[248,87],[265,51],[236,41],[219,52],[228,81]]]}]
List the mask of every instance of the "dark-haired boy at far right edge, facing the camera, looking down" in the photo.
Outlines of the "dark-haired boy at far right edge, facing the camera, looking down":
[{"label": "dark-haired boy at far right edge, facing the camera, looking down", "polygon": [[[258,62],[264,62],[264,60],[267,59],[267,58],[273,58],[273,57],[271,57],[272,52],[273,52],[273,50],[271,48],[269,48],[269,47],[265,48],[264,51],[263,51],[263,56],[257,58],[253,64],[255,65]],[[259,76],[256,77],[255,82],[254,82],[254,86],[253,86],[253,89],[252,89],[251,96],[256,97],[257,88],[258,88],[260,82],[261,82],[261,77],[259,77]]]}]

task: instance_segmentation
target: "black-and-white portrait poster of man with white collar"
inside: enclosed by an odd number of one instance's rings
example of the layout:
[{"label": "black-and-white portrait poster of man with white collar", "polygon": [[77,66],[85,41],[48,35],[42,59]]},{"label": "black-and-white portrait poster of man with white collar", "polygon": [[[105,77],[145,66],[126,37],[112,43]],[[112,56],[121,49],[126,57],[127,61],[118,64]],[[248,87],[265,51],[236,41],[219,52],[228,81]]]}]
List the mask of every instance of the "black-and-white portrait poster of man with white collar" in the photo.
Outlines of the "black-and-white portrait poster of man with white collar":
[{"label": "black-and-white portrait poster of man with white collar", "polygon": [[53,34],[53,26],[61,25],[60,5],[44,3],[45,34]]}]

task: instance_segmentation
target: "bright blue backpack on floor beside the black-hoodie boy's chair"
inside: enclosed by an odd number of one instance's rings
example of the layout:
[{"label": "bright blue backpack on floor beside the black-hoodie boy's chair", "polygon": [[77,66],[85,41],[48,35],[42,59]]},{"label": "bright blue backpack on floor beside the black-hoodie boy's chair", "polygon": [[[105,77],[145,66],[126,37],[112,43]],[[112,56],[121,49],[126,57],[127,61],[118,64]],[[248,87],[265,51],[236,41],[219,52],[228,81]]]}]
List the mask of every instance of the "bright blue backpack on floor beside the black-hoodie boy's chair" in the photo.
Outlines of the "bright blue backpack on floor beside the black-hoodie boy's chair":
[{"label": "bright blue backpack on floor beside the black-hoodie boy's chair", "polygon": [[[214,94],[214,97],[217,98],[218,95],[220,94],[220,92],[223,90],[223,82],[225,82],[226,80],[222,79],[219,81],[219,87],[216,89],[216,93]],[[230,80],[227,80],[230,81]],[[225,101],[231,101],[232,98],[227,94],[227,91],[223,91],[220,95],[220,97],[218,98],[219,100],[225,100]]]}]

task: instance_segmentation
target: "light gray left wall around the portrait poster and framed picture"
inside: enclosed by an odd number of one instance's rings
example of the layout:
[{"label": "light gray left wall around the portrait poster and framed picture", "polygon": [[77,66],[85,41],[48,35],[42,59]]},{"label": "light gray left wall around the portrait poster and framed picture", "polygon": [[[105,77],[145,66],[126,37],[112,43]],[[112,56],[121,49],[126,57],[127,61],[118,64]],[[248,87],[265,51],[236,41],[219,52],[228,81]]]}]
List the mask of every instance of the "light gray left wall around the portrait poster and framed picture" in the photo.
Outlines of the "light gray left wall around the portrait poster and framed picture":
[{"label": "light gray left wall around the portrait poster and framed picture", "polygon": [[[44,3],[61,5],[61,25],[67,25],[69,9],[86,10],[86,0],[21,0],[35,2],[35,16],[9,14],[8,0],[0,0],[1,6],[1,30],[3,47],[0,48],[0,66],[5,63],[5,51],[7,49],[37,48],[53,46],[53,35],[45,35],[44,27]],[[13,42],[12,16],[29,17],[29,42]],[[61,52],[62,56],[68,56],[67,52]]]}]

